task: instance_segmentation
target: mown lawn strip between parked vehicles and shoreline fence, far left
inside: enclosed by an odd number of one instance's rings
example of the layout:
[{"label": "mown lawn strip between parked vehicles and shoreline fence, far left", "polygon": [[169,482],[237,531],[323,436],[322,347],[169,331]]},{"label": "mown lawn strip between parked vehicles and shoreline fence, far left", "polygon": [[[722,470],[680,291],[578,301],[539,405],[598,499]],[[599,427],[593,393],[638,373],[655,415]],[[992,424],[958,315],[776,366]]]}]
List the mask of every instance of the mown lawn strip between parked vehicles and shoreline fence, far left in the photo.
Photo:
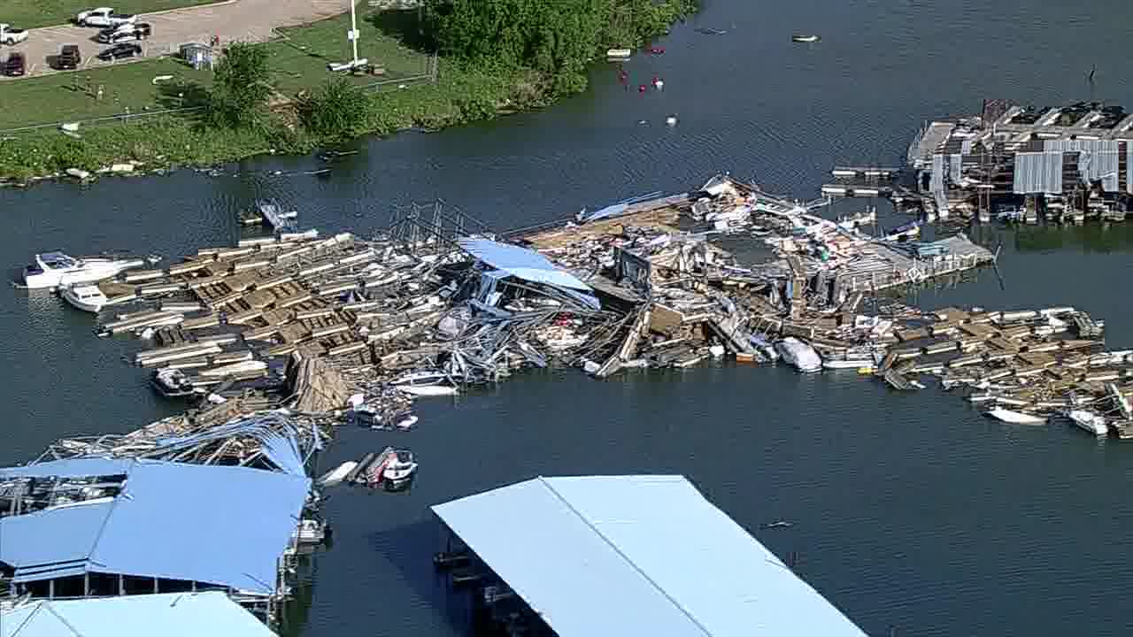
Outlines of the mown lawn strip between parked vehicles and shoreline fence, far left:
[{"label": "mown lawn strip between parked vehicles and shoreline fence, far left", "polygon": [[[159,75],[174,77],[154,86],[153,78]],[[123,113],[127,109],[138,113],[146,109],[177,108],[177,93],[185,90],[180,86],[206,83],[210,75],[176,60],[159,58],[112,68],[8,80],[0,84],[6,103],[0,109],[0,129],[93,119]],[[100,84],[103,86],[101,100],[94,95]],[[17,104],[19,108],[14,108]]]}]

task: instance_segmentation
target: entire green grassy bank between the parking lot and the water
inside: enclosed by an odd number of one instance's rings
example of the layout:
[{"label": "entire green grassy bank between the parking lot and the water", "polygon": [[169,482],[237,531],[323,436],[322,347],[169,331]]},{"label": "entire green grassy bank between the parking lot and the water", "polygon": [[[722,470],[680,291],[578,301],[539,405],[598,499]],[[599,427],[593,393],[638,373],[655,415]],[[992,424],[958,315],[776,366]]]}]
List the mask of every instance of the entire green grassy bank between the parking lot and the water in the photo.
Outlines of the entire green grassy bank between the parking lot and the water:
[{"label": "entire green grassy bank between the parking lot and the water", "polygon": [[[377,14],[376,14],[377,15]],[[395,20],[390,12],[380,14]],[[130,124],[82,126],[80,139],[62,135],[54,127],[0,137],[0,181],[26,184],[34,178],[58,175],[68,168],[99,170],[113,163],[138,162],[140,170],[178,165],[214,165],[269,152],[303,154],[346,137],[391,135],[408,128],[437,129],[491,119],[546,105],[548,78],[523,68],[492,67],[440,59],[435,82],[404,88],[399,79],[426,73],[427,56],[412,51],[377,26],[375,16],[359,20],[359,57],[385,68],[382,76],[350,77],[356,85],[392,80],[370,87],[365,119],[346,136],[320,138],[296,124],[293,112],[270,118],[261,130],[208,128],[191,114],[159,114]],[[265,43],[272,79],[284,100],[304,90],[316,88],[332,77],[329,61],[349,59],[343,37],[348,16],[330,18],[304,27],[284,29],[284,39]],[[105,74],[105,75],[96,75]],[[159,75],[173,78],[153,84]],[[87,82],[87,76],[91,80]],[[6,95],[20,104],[0,110],[3,129],[32,124],[86,120],[92,117],[139,113],[179,105],[194,105],[194,96],[206,86],[211,74],[194,71],[172,60],[145,60],[99,71],[59,74],[22,79],[3,86]],[[102,100],[94,90],[104,88]],[[88,90],[91,86],[93,90]],[[178,96],[182,93],[185,99]]]}]

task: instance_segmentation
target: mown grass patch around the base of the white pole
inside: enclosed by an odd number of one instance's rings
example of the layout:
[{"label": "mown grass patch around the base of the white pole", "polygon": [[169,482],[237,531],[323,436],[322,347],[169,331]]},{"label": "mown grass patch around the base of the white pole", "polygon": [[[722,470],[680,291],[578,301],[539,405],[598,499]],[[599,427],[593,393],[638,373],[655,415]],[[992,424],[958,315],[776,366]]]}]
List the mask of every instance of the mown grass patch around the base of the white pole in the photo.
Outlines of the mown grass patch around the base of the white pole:
[{"label": "mown grass patch around the base of the white pole", "polygon": [[[374,84],[382,79],[399,79],[427,71],[428,56],[403,46],[395,37],[383,33],[373,17],[358,18],[358,57],[384,67],[382,76],[350,76],[358,85]],[[281,29],[284,40],[265,44],[271,53],[273,79],[280,91],[295,94],[303,88],[318,86],[334,77],[326,69],[327,62],[350,60],[350,16],[343,15],[315,24]]]}]

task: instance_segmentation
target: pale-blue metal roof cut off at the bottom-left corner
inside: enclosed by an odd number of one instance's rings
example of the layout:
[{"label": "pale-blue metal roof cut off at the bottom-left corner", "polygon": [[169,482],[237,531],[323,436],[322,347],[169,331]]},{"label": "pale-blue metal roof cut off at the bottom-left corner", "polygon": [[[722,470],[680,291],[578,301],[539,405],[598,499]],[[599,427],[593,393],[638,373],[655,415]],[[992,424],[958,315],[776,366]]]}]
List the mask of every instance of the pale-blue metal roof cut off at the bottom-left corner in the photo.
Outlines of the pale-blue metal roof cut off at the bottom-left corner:
[{"label": "pale-blue metal roof cut off at the bottom-left corner", "polygon": [[0,637],[274,637],[220,592],[35,602],[0,613]]}]

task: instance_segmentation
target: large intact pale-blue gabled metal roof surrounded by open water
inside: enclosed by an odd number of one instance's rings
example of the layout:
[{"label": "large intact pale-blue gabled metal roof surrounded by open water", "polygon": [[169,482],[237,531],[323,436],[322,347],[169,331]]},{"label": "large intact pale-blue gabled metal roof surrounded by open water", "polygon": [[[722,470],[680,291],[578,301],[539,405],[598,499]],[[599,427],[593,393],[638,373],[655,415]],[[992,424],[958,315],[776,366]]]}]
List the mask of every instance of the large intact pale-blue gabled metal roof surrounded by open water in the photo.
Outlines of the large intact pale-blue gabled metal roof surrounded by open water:
[{"label": "large intact pale-blue gabled metal roof surrounded by open water", "polygon": [[540,477],[433,510],[560,637],[866,637],[682,476]]}]

